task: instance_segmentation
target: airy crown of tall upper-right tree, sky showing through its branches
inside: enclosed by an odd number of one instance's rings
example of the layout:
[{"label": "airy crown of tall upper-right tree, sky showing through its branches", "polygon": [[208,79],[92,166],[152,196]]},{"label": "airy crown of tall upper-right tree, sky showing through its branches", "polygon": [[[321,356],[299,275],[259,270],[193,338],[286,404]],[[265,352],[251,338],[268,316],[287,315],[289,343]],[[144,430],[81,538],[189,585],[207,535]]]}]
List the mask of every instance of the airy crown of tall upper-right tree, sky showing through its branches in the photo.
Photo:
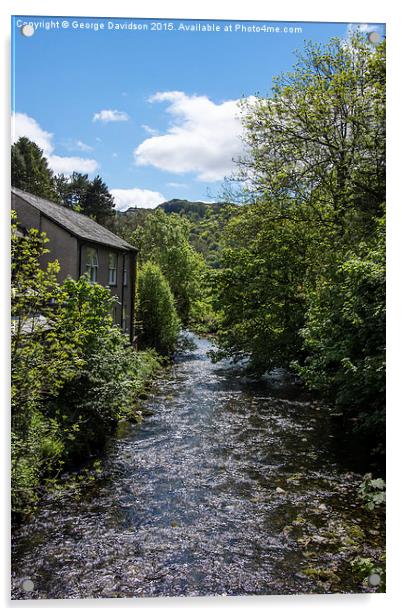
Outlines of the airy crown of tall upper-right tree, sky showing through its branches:
[{"label": "airy crown of tall upper-right tree, sky showing through its branches", "polygon": [[385,43],[308,43],[273,95],[246,99],[242,116],[240,179],[254,195],[291,196],[370,232],[385,195]]}]

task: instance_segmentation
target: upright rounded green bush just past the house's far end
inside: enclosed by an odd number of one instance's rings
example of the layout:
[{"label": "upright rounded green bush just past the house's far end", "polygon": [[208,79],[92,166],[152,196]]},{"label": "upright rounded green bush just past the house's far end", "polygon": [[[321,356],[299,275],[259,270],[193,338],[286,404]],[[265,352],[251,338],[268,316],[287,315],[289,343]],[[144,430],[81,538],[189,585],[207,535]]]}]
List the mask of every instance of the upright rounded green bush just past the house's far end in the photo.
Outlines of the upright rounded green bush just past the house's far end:
[{"label": "upright rounded green bush just past the house's far end", "polygon": [[162,271],[145,263],[138,276],[139,344],[162,355],[171,355],[180,333],[174,297]]}]

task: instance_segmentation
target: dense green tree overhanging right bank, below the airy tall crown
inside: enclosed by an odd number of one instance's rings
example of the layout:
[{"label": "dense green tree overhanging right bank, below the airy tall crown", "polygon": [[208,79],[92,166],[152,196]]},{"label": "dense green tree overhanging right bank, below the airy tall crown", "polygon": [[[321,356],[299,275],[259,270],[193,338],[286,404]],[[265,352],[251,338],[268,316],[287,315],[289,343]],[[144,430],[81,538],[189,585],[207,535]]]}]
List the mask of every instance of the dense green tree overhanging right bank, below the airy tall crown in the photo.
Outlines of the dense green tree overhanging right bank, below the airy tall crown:
[{"label": "dense green tree overhanging right bank, below the airy tall crown", "polygon": [[265,372],[300,356],[310,231],[273,203],[244,206],[231,219],[214,276],[216,357],[248,357]]}]

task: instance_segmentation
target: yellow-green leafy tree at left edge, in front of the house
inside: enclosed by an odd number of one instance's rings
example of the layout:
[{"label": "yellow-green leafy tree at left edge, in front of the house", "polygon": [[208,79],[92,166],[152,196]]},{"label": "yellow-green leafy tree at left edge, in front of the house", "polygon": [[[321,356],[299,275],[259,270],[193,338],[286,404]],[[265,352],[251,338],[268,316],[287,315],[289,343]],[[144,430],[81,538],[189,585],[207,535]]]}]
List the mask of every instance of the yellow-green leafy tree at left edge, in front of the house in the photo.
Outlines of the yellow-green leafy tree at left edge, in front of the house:
[{"label": "yellow-green leafy tree at left edge, in front of the house", "polygon": [[11,338],[13,420],[29,421],[43,395],[58,391],[79,367],[69,334],[52,331],[64,310],[65,294],[56,280],[59,265],[41,268],[47,238],[37,229],[18,232],[13,214],[11,244]]}]

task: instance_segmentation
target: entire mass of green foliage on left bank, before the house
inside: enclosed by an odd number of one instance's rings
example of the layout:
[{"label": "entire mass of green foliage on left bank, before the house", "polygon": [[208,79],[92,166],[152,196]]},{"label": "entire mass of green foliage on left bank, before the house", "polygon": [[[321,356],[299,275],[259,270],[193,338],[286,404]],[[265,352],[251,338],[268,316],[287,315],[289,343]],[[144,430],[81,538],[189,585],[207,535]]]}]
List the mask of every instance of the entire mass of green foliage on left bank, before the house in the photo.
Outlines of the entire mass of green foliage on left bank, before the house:
[{"label": "entire mass of green foliage on left bank, before the house", "polygon": [[12,225],[12,508],[26,513],[46,477],[96,453],[158,365],[113,326],[114,298],[86,276],[41,268],[46,237]]}]

